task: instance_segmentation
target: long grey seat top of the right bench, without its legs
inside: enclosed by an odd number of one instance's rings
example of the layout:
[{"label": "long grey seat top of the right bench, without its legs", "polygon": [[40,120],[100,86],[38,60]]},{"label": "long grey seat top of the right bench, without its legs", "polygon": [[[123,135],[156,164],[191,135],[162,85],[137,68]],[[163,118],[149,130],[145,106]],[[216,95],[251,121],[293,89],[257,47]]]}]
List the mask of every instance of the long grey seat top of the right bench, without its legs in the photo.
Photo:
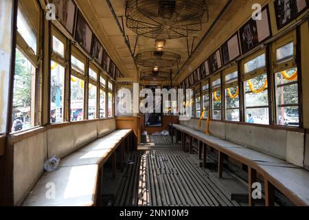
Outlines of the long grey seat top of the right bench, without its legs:
[{"label": "long grey seat top of the right bench, without its legs", "polygon": [[309,206],[309,172],[304,168],[271,155],[260,153],[247,146],[206,135],[201,131],[196,131],[181,124],[173,124],[172,126],[176,130],[187,133],[187,135],[208,146],[216,148],[220,153],[224,153],[257,170],[293,203],[300,206]]}]

